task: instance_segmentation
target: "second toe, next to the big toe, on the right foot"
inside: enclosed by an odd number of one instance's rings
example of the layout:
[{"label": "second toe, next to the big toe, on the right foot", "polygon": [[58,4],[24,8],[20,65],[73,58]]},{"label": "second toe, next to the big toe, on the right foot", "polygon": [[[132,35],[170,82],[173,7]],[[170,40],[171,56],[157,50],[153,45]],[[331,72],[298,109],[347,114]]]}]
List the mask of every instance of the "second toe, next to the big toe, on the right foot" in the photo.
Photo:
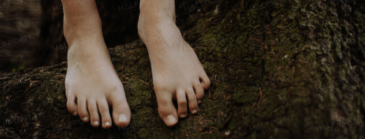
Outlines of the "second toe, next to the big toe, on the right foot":
[{"label": "second toe, next to the big toe, on the right foot", "polygon": [[188,115],[187,108],[187,100],[184,89],[180,89],[176,91],[176,100],[177,100],[177,113],[181,118],[185,118]]}]

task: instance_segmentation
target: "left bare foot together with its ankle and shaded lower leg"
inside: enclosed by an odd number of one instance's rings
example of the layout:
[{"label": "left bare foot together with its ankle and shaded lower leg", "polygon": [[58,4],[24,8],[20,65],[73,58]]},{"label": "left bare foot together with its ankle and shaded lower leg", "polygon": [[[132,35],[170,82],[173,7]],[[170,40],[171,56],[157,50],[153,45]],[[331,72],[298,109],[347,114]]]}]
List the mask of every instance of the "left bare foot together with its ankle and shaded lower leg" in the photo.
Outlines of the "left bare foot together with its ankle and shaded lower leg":
[{"label": "left bare foot together with its ankle and shaded lower leg", "polygon": [[85,122],[91,121],[93,127],[110,128],[112,107],[115,125],[127,126],[130,108],[103,39],[96,3],[76,4],[64,13],[64,35],[69,43],[67,109]]}]

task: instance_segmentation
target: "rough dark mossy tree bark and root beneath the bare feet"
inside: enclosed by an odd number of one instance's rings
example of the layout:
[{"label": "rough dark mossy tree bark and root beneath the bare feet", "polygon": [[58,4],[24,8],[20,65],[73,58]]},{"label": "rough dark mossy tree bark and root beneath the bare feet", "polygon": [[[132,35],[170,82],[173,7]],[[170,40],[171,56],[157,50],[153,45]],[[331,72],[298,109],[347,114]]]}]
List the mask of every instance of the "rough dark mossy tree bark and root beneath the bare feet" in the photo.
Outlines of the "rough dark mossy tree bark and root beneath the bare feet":
[{"label": "rough dark mossy tree bark and root beneath the bare feet", "polygon": [[109,49],[127,82],[130,127],[93,128],[70,115],[64,62],[0,79],[0,138],[364,138],[362,1],[212,2],[177,7],[212,81],[196,115],[164,125],[146,47],[132,42]]}]

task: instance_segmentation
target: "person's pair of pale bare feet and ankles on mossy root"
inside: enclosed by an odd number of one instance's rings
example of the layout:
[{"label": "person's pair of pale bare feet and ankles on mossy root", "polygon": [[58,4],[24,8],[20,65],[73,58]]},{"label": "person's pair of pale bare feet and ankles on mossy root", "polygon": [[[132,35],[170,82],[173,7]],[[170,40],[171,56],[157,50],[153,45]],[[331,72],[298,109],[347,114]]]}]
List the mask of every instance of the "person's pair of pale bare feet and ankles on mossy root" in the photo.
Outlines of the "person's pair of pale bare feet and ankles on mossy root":
[{"label": "person's pair of pale bare feet and ankles on mossy root", "polygon": [[[69,1],[73,0],[62,0],[62,3],[69,4]],[[210,86],[194,50],[176,27],[174,5],[173,0],[141,3],[138,21],[138,34],[151,61],[158,113],[169,127],[175,126],[178,118],[186,117],[188,112],[197,113],[204,89]],[[93,127],[107,129],[112,123],[127,126],[130,108],[103,39],[95,1],[72,3],[70,10],[64,9],[64,35],[69,42],[65,79],[69,112],[85,122],[90,121]],[[95,37],[79,42],[92,36]],[[88,78],[95,80],[84,81]],[[173,101],[177,101],[177,109]]]}]

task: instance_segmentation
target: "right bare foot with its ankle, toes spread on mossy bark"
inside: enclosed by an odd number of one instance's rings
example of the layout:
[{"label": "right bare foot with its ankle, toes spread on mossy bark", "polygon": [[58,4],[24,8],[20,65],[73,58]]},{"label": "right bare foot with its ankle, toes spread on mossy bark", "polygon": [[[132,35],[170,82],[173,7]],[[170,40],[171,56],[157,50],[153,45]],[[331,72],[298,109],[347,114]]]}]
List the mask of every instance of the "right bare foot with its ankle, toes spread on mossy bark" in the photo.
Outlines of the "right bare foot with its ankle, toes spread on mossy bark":
[{"label": "right bare foot with its ankle, toes spread on mossy bark", "polygon": [[[188,115],[188,108],[197,113],[210,80],[175,24],[174,1],[141,3],[140,9],[138,34],[150,56],[158,112],[172,127],[178,117]],[[177,100],[177,111],[173,100]]]}]

